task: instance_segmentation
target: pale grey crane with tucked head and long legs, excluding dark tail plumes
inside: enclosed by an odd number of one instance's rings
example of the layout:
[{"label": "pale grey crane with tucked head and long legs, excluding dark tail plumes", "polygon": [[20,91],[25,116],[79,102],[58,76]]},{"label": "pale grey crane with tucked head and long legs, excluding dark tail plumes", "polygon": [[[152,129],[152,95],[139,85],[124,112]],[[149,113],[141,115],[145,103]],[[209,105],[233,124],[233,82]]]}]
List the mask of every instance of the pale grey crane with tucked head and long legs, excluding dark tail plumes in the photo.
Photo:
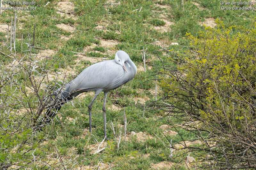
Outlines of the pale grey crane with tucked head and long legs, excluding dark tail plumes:
[{"label": "pale grey crane with tucked head and long legs, excluding dark tail plumes", "polygon": [[[103,119],[106,134],[106,100],[109,90],[116,89],[132,80],[137,73],[136,65],[124,51],[117,51],[114,60],[93,64],[84,69],[74,80],[59,90],[60,101],[72,100],[82,92],[95,91],[89,110],[89,131],[92,130],[92,104],[100,92],[104,92]],[[64,103],[64,102],[63,102]],[[59,107],[60,108],[60,107]]]}]

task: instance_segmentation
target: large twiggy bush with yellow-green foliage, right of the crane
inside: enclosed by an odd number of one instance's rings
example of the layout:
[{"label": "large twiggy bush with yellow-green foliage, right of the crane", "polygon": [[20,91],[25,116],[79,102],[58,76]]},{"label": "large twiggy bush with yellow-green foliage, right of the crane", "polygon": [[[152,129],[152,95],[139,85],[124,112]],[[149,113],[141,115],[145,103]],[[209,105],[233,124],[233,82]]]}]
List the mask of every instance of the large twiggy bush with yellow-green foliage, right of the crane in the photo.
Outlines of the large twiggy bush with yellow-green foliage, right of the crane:
[{"label": "large twiggy bush with yellow-green foliage, right of the crane", "polygon": [[225,28],[217,19],[217,29],[187,33],[188,50],[172,51],[169,64],[159,68],[165,95],[150,107],[182,119],[179,127],[202,141],[185,147],[202,168],[256,168],[255,21],[250,28]]}]

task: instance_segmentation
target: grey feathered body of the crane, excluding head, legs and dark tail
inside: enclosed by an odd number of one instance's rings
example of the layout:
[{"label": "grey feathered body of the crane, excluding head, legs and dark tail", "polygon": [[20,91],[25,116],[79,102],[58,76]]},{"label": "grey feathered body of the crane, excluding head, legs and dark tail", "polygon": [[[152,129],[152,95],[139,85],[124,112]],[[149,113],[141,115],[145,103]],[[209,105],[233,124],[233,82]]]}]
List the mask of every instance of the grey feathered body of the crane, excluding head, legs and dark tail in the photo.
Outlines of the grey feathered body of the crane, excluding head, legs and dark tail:
[{"label": "grey feathered body of the crane, excluding head, legs and dark tail", "polygon": [[[70,81],[61,95],[77,96],[81,92],[101,90],[107,92],[132,80],[137,73],[129,64],[124,63],[128,73],[115,60],[103,61],[84,69],[74,80]],[[76,95],[77,94],[77,95]]]}]

